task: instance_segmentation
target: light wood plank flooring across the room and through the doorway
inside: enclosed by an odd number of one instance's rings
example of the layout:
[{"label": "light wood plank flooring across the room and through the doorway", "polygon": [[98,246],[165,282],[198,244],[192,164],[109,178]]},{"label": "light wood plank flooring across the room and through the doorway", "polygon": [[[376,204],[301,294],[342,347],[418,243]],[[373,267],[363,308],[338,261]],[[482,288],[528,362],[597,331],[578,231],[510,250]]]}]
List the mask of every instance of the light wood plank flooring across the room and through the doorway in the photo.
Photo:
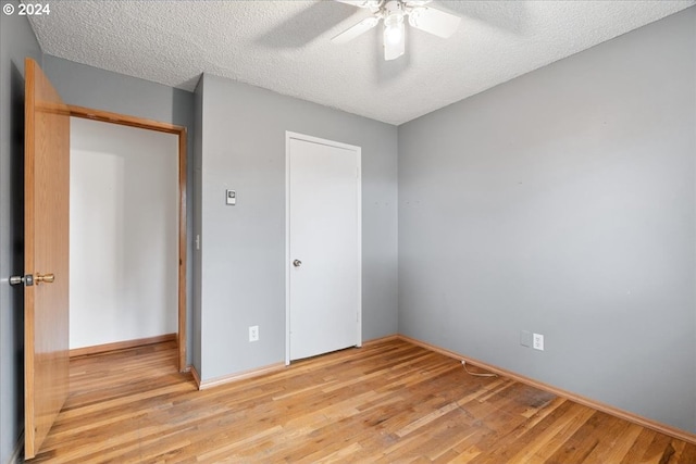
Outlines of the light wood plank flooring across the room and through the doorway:
[{"label": "light wood plank flooring across the room and through the doorway", "polygon": [[696,463],[696,446],[401,340],[203,391],[176,355],[72,360],[30,463]]}]

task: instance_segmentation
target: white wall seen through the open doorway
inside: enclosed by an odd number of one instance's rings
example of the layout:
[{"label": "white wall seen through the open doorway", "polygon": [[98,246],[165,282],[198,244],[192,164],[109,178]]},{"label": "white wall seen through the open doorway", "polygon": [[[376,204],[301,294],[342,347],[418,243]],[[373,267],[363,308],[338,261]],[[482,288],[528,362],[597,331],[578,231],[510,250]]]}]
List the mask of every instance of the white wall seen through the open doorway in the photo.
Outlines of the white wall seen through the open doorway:
[{"label": "white wall seen through the open doorway", "polygon": [[71,349],[176,333],[177,143],[71,120]]}]

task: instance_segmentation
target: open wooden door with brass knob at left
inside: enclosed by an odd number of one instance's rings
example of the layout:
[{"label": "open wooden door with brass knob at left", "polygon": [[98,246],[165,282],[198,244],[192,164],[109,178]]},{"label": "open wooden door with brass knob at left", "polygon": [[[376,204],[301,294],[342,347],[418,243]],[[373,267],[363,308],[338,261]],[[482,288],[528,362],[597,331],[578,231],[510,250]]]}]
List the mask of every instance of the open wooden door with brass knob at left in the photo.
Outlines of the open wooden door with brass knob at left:
[{"label": "open wooden door with brass knob at left", "polygon": [[25,62],[25,456],[34,457],[69,392],[70,112]]}]

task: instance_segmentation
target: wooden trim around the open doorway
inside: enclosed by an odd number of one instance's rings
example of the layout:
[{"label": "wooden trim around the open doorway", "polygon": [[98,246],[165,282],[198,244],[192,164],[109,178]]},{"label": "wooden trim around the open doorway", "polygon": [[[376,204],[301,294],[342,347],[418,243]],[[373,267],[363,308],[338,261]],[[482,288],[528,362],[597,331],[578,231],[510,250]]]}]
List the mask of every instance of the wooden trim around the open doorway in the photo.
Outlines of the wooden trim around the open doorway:
[{"label": "wooden trim around the open doorway", "polygon": [[94,110],[91,108],[67,105],[70,115],[103,123],[120,124],[122,126],[137,127],[178,136],[178,330],[176,334],[178,344],[178,371],[186,371],[186,127],[175,124],[161,123],[144,117],[128,116],[111,113],[109,111]]}]

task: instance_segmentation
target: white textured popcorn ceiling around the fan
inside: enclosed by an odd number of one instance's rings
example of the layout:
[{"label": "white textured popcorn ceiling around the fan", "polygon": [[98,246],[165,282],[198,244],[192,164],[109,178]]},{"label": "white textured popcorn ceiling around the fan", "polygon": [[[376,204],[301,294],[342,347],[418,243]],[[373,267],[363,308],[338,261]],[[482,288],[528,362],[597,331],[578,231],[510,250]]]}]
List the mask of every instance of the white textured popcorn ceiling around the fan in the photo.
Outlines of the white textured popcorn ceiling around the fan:
[{"label": "white textured popcorn ceiling around the fan", "polygon": [[401,124],[695,3],[434,1],[462,17],[458,30],[407,26],[406,55],[391,62],[380,27],[330,41],[370,14],[331,0],[60,0],[30,20],[55,57],[187,90],[211,73]]}]

